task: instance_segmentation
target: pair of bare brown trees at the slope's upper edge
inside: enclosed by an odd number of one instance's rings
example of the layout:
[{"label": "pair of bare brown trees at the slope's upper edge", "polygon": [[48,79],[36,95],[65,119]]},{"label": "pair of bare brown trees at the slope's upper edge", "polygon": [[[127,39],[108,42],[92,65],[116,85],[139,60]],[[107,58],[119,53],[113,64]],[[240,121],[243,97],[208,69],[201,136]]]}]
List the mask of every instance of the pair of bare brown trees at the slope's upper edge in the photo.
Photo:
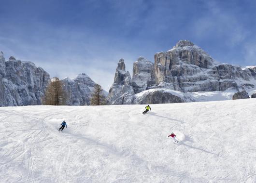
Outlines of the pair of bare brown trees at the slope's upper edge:
[{"label": "pair of bare brown trees at the slope's upper edge", "polygon": [[[64,83],[59,78],[52,78],[47,86],[43,105],[66,105],[69,100],[67,92],[64,90]],[[90,105],[106,105],[106,97],[99,84],[95,84],[90,97]]]}]

